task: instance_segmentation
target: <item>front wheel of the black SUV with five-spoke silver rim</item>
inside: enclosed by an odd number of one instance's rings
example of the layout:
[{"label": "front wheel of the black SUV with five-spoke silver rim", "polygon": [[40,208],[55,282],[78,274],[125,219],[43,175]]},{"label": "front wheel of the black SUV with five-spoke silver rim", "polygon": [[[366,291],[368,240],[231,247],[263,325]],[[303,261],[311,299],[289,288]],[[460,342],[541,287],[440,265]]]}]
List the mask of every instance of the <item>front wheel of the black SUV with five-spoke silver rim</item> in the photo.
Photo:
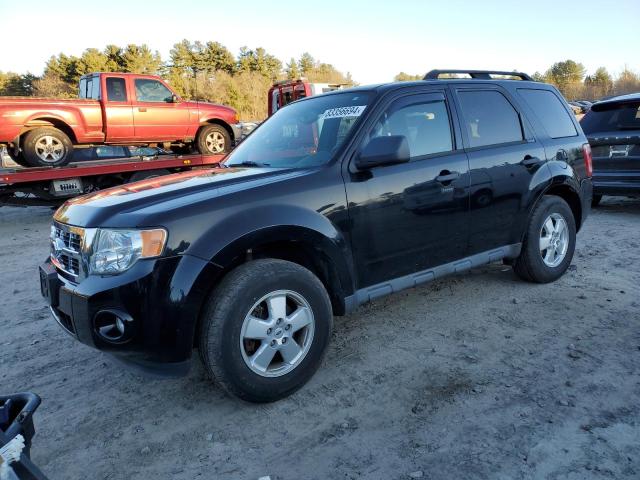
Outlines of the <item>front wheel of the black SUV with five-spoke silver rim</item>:
[{"label": "front wheel of the black SUV with five-spoke silver rim", "polygon": [[[285,295],[286,302],[279,295]],[[273,313],[284,310],[267,307],[260,302],[265,297],[273,299],[275,306],[286,305],[282,323],[276,323]],[[254,309],[256,302],[260,303]],[[296,302],[306,302],[308,307]],[[302,312],[296,318],[310,323],[298,330],[288,328],[294,312]],[[251,320],[249,313],[254,315]],[[332,327],[329,296],[313,273],[284,260],[253,260],[227,274],[210,294],[201,317],[200,356],[209,375],[231,395],[249,402],[273,402],[291,395],[313,376],[326,353]],[[254,335],[264,339],[250,340]],[[289,339],[286,344],[284,337]],[[290,356],[295,346],[301,347],[298,356],[286,363],[282,352]],[[280,353],[272,354],[271,348]],[[260,352],[265,361],[258,361]],[[267,367],[262,373],[260,365]]]}]

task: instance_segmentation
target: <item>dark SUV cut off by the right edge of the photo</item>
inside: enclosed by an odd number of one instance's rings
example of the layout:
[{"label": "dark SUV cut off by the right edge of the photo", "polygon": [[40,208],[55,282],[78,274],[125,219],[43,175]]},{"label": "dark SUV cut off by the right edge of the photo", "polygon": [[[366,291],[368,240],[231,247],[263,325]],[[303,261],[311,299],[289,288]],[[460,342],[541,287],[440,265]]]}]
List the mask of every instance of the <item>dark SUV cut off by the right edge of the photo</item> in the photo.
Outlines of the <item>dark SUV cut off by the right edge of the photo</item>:
[{"label": "dark SUV cut off by the right edge of the photo", "polygon": [[593,152],[593,205],[640,196],[640,93],[593,104],[580,124]]}]

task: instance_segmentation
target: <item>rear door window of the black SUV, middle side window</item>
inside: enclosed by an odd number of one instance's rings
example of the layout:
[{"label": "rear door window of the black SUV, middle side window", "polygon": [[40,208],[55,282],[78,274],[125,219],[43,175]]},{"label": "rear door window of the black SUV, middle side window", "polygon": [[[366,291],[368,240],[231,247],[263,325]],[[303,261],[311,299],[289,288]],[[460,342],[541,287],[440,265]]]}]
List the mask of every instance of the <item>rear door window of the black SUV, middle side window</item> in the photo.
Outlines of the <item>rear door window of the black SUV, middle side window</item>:
[{"label": "rear door window of the black SUV, middle side window", "polygon": [[520,116],[500,92],[458,90],[458,98],[471,147],[523,140]]}]

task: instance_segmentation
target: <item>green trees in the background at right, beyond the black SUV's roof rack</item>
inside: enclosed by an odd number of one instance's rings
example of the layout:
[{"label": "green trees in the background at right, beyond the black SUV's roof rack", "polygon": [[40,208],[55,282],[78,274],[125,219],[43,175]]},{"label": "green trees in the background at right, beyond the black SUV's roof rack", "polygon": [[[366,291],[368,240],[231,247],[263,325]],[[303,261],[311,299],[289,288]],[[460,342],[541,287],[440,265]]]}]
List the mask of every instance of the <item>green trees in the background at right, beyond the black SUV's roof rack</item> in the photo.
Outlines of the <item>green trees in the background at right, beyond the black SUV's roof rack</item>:
[{"label": "green trees in the background at right, beyond the black SUV's roof rack", "polygon": [[[455,77],[455,75],[453,75]],[[396,81],[420,80],[423,75],[400,72]],[[581,63],[573,60],[556,62],[544,72],[535,72],[534,80],[555,85],[567,100],[599,100],[612,95],[640,92],[640,75],[627,66],[613,76],[605,67],[587,74]]]}]

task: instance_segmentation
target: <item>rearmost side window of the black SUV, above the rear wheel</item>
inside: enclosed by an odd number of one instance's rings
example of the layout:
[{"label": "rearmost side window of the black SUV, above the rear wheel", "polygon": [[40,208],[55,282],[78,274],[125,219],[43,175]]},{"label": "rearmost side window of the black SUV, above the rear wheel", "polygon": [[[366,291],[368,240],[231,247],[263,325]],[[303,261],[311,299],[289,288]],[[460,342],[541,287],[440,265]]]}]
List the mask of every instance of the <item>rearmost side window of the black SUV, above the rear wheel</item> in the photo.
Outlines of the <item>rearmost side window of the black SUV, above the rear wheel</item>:
[{"label": "rearmost side window of the black SUV, above the rear wheel", "polygon": [[551,138],[575,137],[576,127],[560,99],[549,90],[519,88],[518,93],[540,119]]}]

